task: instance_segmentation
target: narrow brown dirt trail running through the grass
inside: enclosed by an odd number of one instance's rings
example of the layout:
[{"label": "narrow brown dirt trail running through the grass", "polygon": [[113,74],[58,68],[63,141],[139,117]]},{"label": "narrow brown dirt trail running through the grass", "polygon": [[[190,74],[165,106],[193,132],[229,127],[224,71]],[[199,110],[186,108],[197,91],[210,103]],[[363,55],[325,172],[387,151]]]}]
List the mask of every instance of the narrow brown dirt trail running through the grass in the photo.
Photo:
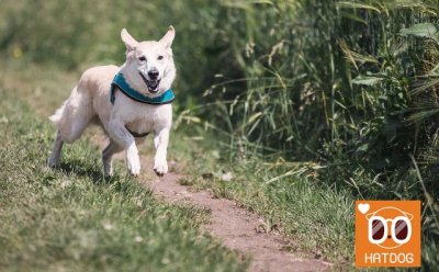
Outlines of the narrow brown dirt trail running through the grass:
[{"label": "narrow brown dirt trail running through the grass", "polygon": [[[117,157],[122,158],[122,154]],[[330,263],[288,252],[285,248],[291,247],[292,241],[283,239],[279,234],[259,231],[261,218],[235,202],[215,199],[206,191],[192,192],[190,186],[178,183],[182,175],[173,171],[158,178],[153,171],[150,157],[140,156],[140,161],[142,171],[151,177],[148,177],[150,181],[140,182],[151,188],[157,196],[169,203],[193,204],[211,212],[211,220],[203,228],[226,247],[250,253],[252,262],[248,271],[326,271],[331,268]]]}]

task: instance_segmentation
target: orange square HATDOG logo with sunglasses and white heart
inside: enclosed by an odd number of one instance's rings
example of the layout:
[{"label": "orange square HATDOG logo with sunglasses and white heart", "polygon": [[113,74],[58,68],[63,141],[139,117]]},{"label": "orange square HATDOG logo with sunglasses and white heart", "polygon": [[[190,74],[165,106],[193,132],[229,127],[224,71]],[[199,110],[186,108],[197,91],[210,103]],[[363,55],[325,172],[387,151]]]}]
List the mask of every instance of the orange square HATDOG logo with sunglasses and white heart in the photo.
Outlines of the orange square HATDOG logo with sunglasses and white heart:
[{"label": "orange square HATDOG logo with sunglasses and white heart", "polygon": [[356,201],[356,265],[420,267],[420,201]]}]

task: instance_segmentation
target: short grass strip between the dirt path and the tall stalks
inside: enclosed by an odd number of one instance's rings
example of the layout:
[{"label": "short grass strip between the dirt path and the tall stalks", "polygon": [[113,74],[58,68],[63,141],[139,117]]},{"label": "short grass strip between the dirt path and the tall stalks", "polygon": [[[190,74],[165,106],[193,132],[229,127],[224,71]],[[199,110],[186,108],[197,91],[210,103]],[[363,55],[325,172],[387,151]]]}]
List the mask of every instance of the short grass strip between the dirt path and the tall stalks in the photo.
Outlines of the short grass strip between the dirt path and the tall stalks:
[{"label": "short grass strip between the dirt path and the tall stalks", "polygon": [[[245,163],[235,158],[236,163],[230,163],[227,152],[212,148],[217,146],[214,140],[206,136],[178,147],[178,154],[185,155],[181,160],[195,162],[187,165],[189,178],[182,184],[235,200],[259,214],[264,218],[260,229],[291,238],[288,250],[292,252],[352,269],[356,197],[348,190],[315,182],[312,165],[303,170],[301,165],[267,163],[258,157]],[[291,169],[296,172],[280,178]]]}]

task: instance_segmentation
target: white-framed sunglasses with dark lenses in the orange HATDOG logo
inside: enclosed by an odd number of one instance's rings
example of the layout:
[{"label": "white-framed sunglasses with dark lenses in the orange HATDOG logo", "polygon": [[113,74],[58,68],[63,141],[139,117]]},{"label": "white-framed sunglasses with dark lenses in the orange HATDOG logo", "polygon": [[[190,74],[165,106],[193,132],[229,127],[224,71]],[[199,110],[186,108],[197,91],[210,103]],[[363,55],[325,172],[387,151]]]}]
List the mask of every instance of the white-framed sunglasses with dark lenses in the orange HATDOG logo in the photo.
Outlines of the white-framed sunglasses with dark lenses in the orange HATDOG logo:
[{"label": "white-framed sunglasses with dark lenses in the orange HATDOG logo", "polygon": [[[395,218],[384,218],[375,214],[382,209],[397,209],[404,216],[396,216]],[[374,245],[383,243],[387,238],[392,238],[398,246],[408,242],[412,238],[412,218],[413,215],[401,211],[396,207],[383,207],[372,214],[365,216],[368,219],[368,236],[369,241]],[[389,224],[391,224],[391,236],[389,236]]]}]

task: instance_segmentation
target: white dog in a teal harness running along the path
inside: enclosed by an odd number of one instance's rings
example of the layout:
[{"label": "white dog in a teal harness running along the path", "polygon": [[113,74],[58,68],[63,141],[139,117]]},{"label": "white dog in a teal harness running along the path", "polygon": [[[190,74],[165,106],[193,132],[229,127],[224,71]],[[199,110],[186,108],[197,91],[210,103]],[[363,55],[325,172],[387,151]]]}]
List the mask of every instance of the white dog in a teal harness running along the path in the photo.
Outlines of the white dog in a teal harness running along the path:
[{"label": "white dog in a teal harness running along the path", "polygon": [[86,70],[70,97],[49,120],[57,134],[47,163],[59,166],[64,143],[78,139],[90,124],[100,125],[110,144],[102,151],[105,175],[113,174],[112,157],[125,150],[131,174],[138,175],[140,161],[137,145],[154,133],[156,155],[154,171],[161,177],[168,172],[167,149],[172,123],[176,78],[171,45],[176,36],[169,26],[156,41],[137,42],[123,29],[126,61],[121,66],[99,66]]}]

